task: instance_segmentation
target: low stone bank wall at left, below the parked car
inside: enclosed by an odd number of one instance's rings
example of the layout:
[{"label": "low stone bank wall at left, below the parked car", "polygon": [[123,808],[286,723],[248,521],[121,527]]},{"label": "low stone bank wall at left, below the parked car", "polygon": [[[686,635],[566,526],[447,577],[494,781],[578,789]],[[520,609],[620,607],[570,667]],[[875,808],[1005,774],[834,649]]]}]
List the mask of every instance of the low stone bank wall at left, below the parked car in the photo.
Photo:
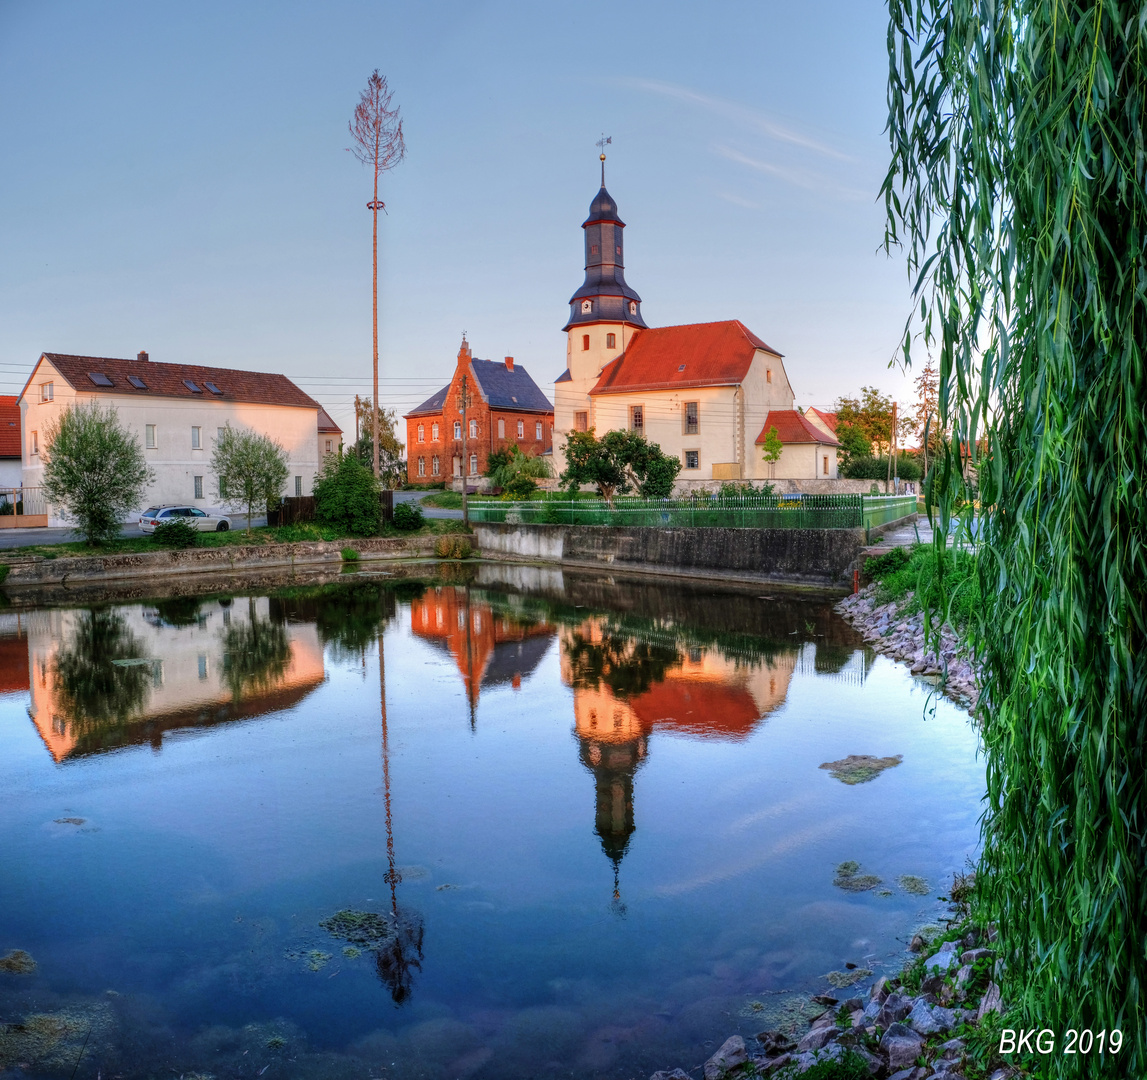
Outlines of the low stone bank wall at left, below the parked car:
[{"label": "low stone bank wall at left, below the parked car", "polygon": [[11,569],[3,584],[8,590],[18,590],[97,581],[181,578],[203,573],[262,573],[270,570],[290,573],[302,568],[337,565],[343,559],[344,548],[358,551],[361,562],[424,558],[434,555],[436,539],[428,535],[330,542],[252,543],[60,558],[16,556],[8,559]]}]

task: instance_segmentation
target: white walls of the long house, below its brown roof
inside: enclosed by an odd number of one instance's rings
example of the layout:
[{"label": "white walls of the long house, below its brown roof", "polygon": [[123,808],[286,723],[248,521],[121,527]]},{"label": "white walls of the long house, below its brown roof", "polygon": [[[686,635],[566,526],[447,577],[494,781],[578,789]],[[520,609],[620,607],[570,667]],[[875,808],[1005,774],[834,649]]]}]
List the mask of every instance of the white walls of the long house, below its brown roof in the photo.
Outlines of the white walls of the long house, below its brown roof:
[{"label": "white walls of the long house, below its brown roof", "polygon": [[[46,383],[52,384],[52,399],[47,401],[42,400],[41,391]],[[219,485],[211,472],[211,453],[218,430],[227,423],[240,430],[250,429],[270,436],[287,451],[289,474],[282,494],[294,495],[298,492],[309,495],[313,490],[320,445],[315,439],[319,423],[317,408],[209,398],[189,401],[181,398],[77,392],[50,361],[42,359],[19,400],[22,477],[25,486],[36,486],[42,480],[42,451],[48,423],[57,418],[68,406],[87,404],[93,399],[116,409],[120,423],[139,438],[143,455],[155,471],[155,479],[148,486],[143,502],[133,508],[126,521],[139,517],[139,511],[145,507],[159,502],[219,506]],[[148,429],[151,425],[154,447],[148,445]],[[200,429],[198,448],[193,445],[195,428]],[[201,478],[202,494],[196,492],[196,477]],[[48,510],[48,523],[65,524],[54,508]]]}]

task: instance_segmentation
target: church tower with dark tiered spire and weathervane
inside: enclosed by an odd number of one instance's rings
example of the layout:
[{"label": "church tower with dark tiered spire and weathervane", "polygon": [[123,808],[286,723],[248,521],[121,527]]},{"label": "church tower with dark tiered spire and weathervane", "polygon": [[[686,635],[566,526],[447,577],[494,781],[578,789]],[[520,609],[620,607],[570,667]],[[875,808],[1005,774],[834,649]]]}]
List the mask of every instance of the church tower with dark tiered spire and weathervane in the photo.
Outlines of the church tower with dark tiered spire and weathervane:
[{"label": "church tower with dark tiered spire and weathervane", "polygon": [[554,384],[554,455],[570,431],[594,426],[590,390],[601,369],[616,360],[633,335],[646,328],[641,297],[625,283],[625,222],[606,190],[606,155],[601,155],[601,190],[582,222],[585,233],[585,281],[570,297],[565,331],[565,370]]}]

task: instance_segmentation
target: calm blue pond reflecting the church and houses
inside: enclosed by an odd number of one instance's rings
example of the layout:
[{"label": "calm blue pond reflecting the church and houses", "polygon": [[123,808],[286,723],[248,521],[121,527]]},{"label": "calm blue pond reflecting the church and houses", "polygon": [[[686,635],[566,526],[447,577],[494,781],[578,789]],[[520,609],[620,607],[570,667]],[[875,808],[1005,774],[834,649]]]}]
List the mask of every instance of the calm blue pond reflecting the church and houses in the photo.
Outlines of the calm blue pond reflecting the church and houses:
[{"label": "calm blue pond reflecting the church and houses", "polygon": [[5,1077],[645,1080],[897,970],[977,844],[969,717],[825,597],[9,608],[0,691]]}]

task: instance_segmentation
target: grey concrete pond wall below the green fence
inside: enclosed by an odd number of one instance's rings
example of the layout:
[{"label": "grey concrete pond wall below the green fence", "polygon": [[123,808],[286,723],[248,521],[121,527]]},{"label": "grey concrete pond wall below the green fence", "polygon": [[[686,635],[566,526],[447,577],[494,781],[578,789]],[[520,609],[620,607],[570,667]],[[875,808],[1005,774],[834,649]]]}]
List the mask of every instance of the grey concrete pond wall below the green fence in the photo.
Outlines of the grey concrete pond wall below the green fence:
[{"label": "grey concrete pond wall below the green fence", "polygon": [[851,585],[863,529],[614,529],[476,524],[484,558],[790,585]]}]

